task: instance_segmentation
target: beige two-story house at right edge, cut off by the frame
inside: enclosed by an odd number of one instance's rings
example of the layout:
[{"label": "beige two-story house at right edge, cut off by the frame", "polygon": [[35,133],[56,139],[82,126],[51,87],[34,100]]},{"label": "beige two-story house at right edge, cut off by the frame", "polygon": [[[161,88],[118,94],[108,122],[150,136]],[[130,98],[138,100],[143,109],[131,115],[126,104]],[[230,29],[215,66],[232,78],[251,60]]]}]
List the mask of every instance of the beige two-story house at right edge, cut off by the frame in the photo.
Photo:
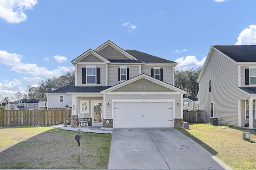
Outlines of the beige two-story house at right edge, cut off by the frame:
[{"label": "beige two-story house at right edge, cut off by the frame", "polygon": [[205,121],[256,126],[256,46],[212,46],[198,77]]}]

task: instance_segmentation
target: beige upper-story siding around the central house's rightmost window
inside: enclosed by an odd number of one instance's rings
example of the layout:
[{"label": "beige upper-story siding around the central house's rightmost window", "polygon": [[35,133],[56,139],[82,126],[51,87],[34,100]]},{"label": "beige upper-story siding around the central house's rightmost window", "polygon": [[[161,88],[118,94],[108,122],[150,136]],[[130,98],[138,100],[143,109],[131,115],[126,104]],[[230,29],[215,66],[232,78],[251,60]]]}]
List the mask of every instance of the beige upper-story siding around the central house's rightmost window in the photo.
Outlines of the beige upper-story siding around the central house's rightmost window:
[{"label": "beige upper-story siding around the central house's rightmost window", "polygon": [[141,66],[141,73],[145,73],[148,74],[149,76],[151,76],[151,68],[154,67],[160,67],[164,69],[164,82],[169,83],[169,84],[173,84],[173,66],[158,66],[158,65],[152,65],[152,66]]}]

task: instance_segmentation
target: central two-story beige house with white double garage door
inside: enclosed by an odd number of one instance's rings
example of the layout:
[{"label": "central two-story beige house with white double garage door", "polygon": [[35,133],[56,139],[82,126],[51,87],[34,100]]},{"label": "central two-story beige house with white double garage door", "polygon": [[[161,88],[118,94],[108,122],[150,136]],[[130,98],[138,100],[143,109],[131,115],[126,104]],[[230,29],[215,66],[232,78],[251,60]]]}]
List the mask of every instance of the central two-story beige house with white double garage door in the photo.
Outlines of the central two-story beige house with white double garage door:
[{"label": "central two-story beige house with white double garage door", "polygon": [[[74,60],[72,127],[84,113],[92,126],[182,127],[183,94],[174,86],[178,64],[107,41]],[[49,104],[49,101],[48,101]]]}]

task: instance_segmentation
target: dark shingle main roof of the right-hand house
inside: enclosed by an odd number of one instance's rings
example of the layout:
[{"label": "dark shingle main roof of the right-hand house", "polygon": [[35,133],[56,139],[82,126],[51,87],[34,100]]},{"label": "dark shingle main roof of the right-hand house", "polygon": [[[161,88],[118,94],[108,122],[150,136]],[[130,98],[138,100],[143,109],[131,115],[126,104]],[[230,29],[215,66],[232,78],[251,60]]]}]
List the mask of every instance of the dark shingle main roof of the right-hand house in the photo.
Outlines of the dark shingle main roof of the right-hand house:
[{"label": "dark shingle main roof of the right-hand house", "polygon": [[213,46],[235,62],[256,62],[256,45]]}]

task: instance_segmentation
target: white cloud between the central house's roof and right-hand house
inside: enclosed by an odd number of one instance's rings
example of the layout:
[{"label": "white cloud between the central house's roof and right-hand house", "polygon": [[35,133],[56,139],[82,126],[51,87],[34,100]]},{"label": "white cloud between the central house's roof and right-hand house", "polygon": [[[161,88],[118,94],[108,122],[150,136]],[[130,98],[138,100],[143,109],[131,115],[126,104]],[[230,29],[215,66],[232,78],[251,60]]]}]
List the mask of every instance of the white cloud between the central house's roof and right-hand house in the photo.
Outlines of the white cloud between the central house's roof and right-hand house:
[{"label": "white cloud between the central house's roof and right-hand house", "polygon": [[181,70],[181,69],[185,70],[187,68],[198,68],[204,65],[205,60],[206,60],[206,57],[204,57],[200,61],[196,59],[196,56],[186,56],[185,59],[184,57],[181,57],[175,60],[175,62],[178,62],[178,65],[176,66],[176,68],[178,70]]}]

